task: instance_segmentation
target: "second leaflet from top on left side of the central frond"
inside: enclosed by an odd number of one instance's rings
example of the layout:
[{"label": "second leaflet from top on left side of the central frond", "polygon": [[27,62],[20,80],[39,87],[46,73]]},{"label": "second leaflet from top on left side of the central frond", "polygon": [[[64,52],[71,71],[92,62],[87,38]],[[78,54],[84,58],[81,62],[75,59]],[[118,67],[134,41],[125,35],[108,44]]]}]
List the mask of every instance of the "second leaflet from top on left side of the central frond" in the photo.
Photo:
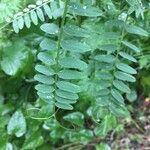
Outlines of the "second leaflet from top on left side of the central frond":
[{"label": "second leaflet from top on left side of the central frond", "polygon": [[41,43],[40,43],[40,47],[42,50],[48,50],[48,51],[54,51],[57,48],[57,44],[55,41],[51,40],[51,39],[47,39],[45,38]]}]

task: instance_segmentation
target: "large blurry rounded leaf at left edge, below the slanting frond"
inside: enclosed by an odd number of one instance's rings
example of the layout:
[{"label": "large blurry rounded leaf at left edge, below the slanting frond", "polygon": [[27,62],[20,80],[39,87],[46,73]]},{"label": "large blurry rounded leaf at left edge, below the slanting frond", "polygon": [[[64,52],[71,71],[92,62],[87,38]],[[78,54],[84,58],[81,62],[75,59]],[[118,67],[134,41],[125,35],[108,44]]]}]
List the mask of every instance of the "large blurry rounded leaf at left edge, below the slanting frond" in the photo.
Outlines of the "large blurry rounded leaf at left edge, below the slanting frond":
[{"label": "large blurry rounded leaf at left edge, below the slanting frond", "polygon": [[26,68],[30,56],[29,49],[24,46],[23,41],[18,40],[13,45],[4,48],[2,61],[0,62],[2,70],[7,75],[14,76]]}]

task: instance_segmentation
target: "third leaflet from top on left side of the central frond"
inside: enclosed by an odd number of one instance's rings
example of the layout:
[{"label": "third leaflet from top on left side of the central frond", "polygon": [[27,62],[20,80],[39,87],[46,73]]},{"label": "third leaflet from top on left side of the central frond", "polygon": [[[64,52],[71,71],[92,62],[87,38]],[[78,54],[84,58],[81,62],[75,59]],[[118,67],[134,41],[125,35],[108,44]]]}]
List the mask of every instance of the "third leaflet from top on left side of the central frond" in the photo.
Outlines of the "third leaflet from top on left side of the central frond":
[{"label": "third leaflet from top on left side of the central frond", "polygon": [[46,65],[53,65],[55,63],[53,57],[47,52],[39,53],[38,59],[41,60]]}]

